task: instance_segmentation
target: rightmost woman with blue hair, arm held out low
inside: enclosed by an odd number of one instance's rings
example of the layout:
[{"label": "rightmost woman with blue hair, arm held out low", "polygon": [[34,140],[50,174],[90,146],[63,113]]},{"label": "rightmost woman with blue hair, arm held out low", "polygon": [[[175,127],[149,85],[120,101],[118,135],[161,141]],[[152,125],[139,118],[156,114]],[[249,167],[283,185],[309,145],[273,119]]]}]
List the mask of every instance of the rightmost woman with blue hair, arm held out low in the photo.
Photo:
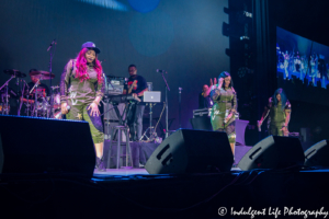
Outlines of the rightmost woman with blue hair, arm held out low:
[{"label": "rightmost woman with blue hair, arm held out low", "polygon": [[258,122],[258,129],[261,130],[261,125],[269,115],[268,127],[269,135],[288,136],[288,123],[291,120],[292,105],[287,100],[283,89],[277,89],[274,95],[269,99],[269,104]]}]

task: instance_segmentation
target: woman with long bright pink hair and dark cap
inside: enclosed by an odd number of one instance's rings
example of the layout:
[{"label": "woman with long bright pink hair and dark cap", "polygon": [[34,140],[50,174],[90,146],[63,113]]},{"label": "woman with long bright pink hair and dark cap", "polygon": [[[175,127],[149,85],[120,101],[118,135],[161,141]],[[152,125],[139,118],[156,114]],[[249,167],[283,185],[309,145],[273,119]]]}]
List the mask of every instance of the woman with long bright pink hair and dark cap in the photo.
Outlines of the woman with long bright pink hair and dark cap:
[{"label": "woman with long bright pink hair and dark cap", "polygon": [[95,147],[97,168],[103,170],[104,134],[99,104],[104,95],[104,78],[98,54],[100,49],[92,42],[87,42],[78,57],[69,60],[60,78],[60,102],[61,113],[67,114],[67,119],[83,119],[89,123]]}]

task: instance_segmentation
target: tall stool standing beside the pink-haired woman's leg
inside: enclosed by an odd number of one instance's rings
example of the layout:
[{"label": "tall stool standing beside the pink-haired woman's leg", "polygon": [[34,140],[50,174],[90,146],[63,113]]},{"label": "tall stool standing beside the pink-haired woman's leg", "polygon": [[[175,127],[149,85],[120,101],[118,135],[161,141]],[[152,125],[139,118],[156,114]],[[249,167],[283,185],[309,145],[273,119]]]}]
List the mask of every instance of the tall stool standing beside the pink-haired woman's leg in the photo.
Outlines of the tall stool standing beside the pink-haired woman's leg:
[{"label": "tall stool standing beside the pink-haired woman's leg", "polygon": [[[116,169],[120,168],[133,168],[133,158],[132,158],[132,149],[129,145],[129,134],[128,134],[128,127],[127,126],[114,126],[112,127],[112,134],[111,134],[111,141],[110,141],[110,149],[109,149],[109,155],[107,155],[107,169],[110,169],[110,162],[111,162],[111,152],[112,152],[112,145],[114,143],[113,136],[117,131],[117,141],[116,141]],[[126,135],[126,142],[121,142],[122,141],[122,131]],[[121,154],[121,146],[126,146],[126,153]],[[126,165],[121,166],[120,165],[120,159],[121,158],[126,158]],[[131,165],[128,165],[128,162],[131,162]]]}]

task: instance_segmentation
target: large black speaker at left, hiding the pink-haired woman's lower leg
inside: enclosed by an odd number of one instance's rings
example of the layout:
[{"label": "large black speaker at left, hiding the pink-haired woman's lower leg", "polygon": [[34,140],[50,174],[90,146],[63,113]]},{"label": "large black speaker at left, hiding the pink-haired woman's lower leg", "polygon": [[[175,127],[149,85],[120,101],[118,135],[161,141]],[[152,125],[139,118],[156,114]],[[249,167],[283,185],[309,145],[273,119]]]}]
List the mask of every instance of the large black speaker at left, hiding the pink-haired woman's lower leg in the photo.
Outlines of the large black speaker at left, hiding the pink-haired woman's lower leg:
[{"label": "large black speaker at left, hiding the pink-haired woman's lower leg", "polygon": [[95,151],[87,122],[0,116],[0,173],[91,177]]}]

